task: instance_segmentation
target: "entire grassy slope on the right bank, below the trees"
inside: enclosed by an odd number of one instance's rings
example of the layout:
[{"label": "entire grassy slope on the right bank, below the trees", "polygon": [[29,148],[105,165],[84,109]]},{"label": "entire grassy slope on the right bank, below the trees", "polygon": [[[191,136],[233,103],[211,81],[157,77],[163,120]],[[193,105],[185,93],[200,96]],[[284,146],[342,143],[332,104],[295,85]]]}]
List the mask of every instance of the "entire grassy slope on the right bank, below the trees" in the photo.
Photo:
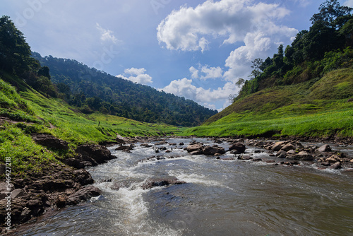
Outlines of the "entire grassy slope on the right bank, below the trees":
[{"label": "entire grassy slope on the right bank, below the trees", "polygon": [[197,136],[353,136],[353,69],[267,88],[187,129]]}]

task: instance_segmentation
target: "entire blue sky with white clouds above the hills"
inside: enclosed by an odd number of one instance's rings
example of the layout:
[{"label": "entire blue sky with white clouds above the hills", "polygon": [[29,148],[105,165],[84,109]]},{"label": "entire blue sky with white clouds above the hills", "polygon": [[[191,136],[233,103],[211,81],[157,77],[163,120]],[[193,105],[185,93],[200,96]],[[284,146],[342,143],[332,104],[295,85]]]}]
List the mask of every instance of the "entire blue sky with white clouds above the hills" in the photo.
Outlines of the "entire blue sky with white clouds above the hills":
[{"label": "entire blue sky with white clouds above the hills", "polygon": [[76,59],[220,111],[251,61],[309,30],[323,1],[1,0],[0,15],[42,57]]}]

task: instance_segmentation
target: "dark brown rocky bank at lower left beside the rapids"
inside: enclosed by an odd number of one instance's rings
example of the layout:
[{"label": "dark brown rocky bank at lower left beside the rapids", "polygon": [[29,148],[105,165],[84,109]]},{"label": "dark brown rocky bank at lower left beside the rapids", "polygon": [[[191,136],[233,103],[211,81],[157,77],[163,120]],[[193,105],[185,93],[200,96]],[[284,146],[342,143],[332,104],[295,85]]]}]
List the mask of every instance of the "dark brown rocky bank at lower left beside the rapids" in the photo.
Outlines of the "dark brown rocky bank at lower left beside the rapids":
[{"label": "dark brown rocky bank at lower left beside the rapids", "polygon": [[[33,139],[46,148],[68,149],[65,141],[54,136],[37,134]],[[5,219],[8,212],[11,212],[11,220],[8,222],[13,229],[16,225],[35,220],[47,211],[76,205],[92,196],[99,196],[100,189],[90,185],[94,181],[83,168],[107,163],[113,158],[104,146],[81,145],[76,148],[73,158],[43,164],[42,172],[26,172],[25,178],[13,178],[10,184],[0,182],[0,218]],[[11,211],[6,210],[8,207]],[[8,231],[6,227],[1,227],[1,235]]]}]

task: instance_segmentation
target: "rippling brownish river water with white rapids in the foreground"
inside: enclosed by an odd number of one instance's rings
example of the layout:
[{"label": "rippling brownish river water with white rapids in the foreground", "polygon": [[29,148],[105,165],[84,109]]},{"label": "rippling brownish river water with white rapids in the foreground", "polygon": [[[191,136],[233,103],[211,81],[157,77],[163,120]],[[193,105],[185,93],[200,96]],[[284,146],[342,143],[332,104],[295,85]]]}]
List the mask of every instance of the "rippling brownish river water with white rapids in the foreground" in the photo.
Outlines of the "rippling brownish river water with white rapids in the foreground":
[{"label": "rippling brownish river water with white rapids in the foreground", "polygon": [[[173,146],[172,153],[110,148],[117,159],[88,169],[101,196],[20,235],[353,235],[352,170],[191,156],[182,149],[191,139],[167,141],[185,145]],[[160,160],[145,160],[153,155]],[[175,158],[165,158],[170,156]],[[143,189],[153,177],[186,184]]]}]

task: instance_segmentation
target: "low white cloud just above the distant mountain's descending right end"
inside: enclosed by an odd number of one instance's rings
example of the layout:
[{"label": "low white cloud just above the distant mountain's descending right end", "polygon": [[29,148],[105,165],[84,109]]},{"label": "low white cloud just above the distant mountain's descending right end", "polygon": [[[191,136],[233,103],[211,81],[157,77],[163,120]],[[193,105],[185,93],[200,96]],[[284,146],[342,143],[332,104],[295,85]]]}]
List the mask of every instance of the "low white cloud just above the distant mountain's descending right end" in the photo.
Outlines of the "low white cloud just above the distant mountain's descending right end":
[{"label": "low white cloud just above the distant mountain's descending right end", "polygon": [[170,82],[169,85],[159,90],[194,100],[212,109],[215,109],[215,104],[213,103],[224,102],[230,94],[239,92],[239,87],[233,82],[227,82],[222,88],[217,89],[196,87],[192,82],[192,79],[182,78]]}]

